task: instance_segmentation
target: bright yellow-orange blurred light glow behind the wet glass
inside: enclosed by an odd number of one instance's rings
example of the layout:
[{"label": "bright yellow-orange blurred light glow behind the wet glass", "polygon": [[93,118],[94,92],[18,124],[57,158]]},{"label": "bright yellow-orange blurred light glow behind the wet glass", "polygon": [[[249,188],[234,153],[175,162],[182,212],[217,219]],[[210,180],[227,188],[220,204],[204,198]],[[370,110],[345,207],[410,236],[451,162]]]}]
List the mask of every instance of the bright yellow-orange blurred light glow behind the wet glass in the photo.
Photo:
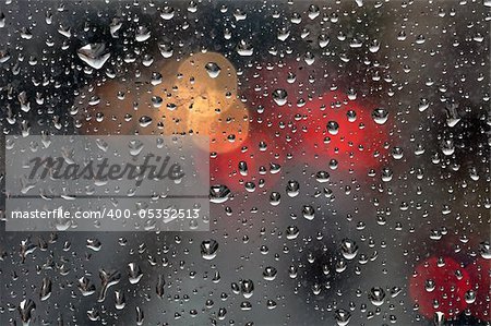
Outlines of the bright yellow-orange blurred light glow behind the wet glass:
[{"label": "bright yellow-orange blurred light glow behind the wet glass", "polygon": [[[214,75],[211,67],[219,73]],[[209,150],[216,153],[241,146],[249,135],[249,117],[238,99],[237,71],[230,61],[216,52],[200,52],[177,71],[169,98],[176,109],[165,117],[166,132],[207,135]]]}]

